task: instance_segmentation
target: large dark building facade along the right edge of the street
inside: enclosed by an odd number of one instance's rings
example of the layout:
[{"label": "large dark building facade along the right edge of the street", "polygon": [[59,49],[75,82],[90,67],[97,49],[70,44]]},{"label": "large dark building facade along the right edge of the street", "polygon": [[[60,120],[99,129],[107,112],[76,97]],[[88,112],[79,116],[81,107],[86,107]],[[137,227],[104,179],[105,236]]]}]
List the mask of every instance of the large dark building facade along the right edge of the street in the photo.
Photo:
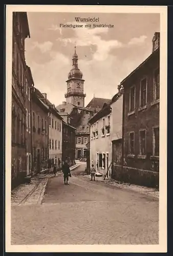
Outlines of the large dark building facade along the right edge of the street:
[{"label": "large dark building facade along the right edge of the street", "polygon": [[124,88],[122,175],[125,181],[155,187],[159,185],[158,35],[153,39],[152,54],[121,82]]}]

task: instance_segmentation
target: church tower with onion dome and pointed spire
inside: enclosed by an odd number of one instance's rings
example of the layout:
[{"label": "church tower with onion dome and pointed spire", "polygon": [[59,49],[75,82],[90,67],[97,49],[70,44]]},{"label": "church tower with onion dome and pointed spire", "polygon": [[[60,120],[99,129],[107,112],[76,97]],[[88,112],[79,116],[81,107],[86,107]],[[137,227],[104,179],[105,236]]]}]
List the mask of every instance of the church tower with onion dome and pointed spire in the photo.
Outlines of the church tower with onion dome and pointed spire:
[{"label": "church tower with onion dome and pointed spire", "polygon": [[78,56],[73,54],[73,67],[68,75],[67,82],[67,93],[65,94],[67,103],[71,103],[77,106],[84,106],[85,94],[83,93],[83,82],[82,72],[78,68]]}]

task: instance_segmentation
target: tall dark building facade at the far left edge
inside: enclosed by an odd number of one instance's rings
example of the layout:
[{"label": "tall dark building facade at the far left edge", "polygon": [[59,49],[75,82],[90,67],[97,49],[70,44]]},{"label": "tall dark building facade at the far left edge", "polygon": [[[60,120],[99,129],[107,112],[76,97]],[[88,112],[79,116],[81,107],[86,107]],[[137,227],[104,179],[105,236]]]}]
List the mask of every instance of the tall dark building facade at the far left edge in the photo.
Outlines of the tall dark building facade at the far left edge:
[{"label": "tall dark building facade at the far left edge", "polygon": [[[30,37],[26,12],[13,12],[12,38],[12,137],[11,182],[12,188],[23,182],[27,175],[27,110],[25,39]],[[30,90],[30,86],[29,86]]]}]

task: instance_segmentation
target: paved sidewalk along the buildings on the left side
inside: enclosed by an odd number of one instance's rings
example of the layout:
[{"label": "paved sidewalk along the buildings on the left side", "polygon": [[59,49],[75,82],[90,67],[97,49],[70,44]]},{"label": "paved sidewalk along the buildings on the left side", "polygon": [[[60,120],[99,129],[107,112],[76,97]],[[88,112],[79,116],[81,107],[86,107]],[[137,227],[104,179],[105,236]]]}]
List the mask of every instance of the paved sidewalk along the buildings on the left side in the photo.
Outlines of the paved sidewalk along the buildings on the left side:
[{"label": "paved sidewalk along the buildings on the left side", "polygon": [[[70,170],[77,168],[79,164],[70,167]],[[62,174],[62,171],[56,173],[56,176]],[[45,188],[48,179],[54,175],[38,175],[31,179],[29,184],[20,184],[11,191],[11,206],[41,204],[44,197]]]}]

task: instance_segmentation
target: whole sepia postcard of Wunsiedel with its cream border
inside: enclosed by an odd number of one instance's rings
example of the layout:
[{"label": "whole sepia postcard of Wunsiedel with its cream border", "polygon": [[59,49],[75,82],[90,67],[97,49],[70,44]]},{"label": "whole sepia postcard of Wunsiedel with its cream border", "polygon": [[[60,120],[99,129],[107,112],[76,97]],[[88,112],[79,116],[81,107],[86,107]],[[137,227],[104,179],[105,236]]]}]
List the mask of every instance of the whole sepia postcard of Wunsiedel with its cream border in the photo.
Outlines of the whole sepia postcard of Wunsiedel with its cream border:
[{"label": "whole sepia postcard of Wunsiedel with its cream border", "polygon": [[6,12],[7,251],[166,252],[167,8]]}]

